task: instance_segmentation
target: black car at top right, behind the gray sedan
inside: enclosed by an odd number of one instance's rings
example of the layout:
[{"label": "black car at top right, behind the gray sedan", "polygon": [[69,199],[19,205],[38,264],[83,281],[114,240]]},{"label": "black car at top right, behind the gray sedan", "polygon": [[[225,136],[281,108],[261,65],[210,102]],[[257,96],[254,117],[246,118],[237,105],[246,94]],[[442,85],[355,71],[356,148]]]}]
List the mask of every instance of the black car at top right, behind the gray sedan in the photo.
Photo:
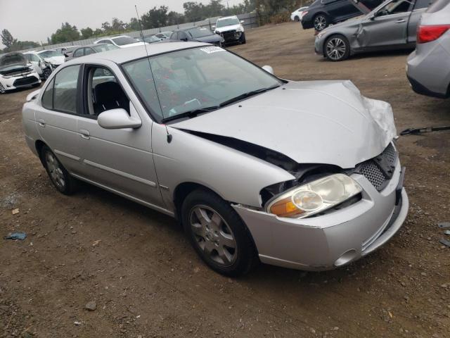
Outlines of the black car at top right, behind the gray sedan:
[{"label": "black car at top right, behind the gray sedan", "polygon": [[354,18],[373,10],[383,0],[316,0],[302,17],[304,30],[324,30],[328,25]]}]

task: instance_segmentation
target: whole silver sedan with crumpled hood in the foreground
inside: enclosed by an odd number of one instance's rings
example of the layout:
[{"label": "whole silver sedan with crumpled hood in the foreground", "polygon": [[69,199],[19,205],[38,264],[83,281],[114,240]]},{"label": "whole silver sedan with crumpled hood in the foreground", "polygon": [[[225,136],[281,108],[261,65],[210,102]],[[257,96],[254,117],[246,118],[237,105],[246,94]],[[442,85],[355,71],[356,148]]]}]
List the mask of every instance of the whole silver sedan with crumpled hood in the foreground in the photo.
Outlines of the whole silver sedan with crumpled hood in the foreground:
[{"label": "whole silver sedan with crumpled hood in the foreground", "polygon": [[82,180],[171,215],[232,276],[258,261],[337,268],[404,223],[389,104],[349,81],[281,80],[210,44],[149,53],[76,58],[27,97],[26,142],[59,192]]}]

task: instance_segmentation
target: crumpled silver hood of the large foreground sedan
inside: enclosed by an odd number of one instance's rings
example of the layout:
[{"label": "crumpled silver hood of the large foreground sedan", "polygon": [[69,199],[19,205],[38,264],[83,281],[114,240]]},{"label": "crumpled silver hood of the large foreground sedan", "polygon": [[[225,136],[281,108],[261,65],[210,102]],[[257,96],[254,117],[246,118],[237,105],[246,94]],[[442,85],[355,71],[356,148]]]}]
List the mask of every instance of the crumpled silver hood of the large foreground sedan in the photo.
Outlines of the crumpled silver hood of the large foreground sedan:
[{"label": "crumpled silver hood of the large foreground sedan", "polygon": [[297,163],[341,168],[379,155],[397,135],[390,104],[367,99],[350,81],[283,87],[171,127],[233,137]]}]

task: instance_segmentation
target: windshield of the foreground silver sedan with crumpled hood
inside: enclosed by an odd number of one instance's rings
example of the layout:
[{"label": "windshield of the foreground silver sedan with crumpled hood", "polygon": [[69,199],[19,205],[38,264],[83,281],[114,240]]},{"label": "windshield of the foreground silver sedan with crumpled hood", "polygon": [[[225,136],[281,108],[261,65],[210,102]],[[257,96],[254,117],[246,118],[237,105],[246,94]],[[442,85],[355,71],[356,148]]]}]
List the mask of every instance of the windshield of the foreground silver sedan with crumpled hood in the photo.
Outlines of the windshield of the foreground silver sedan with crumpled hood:
[{"label": "windshield of the foreground silver sedan with crumpled hood", "polygon": [[160,121],[218,108],[243,94],[281,85],[276,77],[216,46],[153,56],[150,64],[153,76],[147,58],[125,63],[123,68],[136,92]]}]

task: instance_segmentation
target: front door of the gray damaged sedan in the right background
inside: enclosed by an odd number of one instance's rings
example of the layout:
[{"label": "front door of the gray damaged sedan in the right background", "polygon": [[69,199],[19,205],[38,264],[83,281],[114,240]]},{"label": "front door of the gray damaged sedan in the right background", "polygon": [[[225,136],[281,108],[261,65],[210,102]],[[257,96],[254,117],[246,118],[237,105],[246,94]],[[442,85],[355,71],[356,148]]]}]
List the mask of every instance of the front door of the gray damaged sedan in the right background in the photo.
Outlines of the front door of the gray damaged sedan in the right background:
[{"label": "front door of the gray damaged sedan in the right background", "polygon": [[387,1],[375,17],[362,23],[358,37],[361,46],[371,49],[385,49],[390,46],[406,44],[408,20],[411,14],[411,1]]}]

